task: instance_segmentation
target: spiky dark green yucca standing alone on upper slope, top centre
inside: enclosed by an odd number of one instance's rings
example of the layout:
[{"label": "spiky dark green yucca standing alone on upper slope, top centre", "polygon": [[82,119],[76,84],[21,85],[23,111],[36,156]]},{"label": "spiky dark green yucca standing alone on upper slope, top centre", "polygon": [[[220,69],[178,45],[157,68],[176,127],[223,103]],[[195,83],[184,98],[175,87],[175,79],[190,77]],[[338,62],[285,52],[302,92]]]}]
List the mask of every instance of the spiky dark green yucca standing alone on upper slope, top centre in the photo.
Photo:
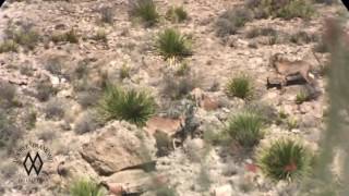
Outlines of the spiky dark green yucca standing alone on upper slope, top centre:
[{"label": "spiky dark green yucca standing alone on upper slope, top centre", "polygon": [[158,35],[156,48],[165,59],[192,54],[188,38],[173,28],[167,28]]}]

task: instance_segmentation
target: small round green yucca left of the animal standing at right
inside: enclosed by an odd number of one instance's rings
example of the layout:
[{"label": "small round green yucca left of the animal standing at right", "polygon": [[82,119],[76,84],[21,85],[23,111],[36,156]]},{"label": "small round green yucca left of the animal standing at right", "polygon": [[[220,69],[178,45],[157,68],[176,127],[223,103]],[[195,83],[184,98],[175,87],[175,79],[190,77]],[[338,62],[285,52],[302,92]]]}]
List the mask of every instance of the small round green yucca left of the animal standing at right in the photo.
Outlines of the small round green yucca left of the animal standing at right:
[{"label": "small round green yucca left of the animal standing at right", "polygon": [[253,96],[252,79],[244,74],[234,76],[228,81],[226,91],[228,96],[249,99]]}]

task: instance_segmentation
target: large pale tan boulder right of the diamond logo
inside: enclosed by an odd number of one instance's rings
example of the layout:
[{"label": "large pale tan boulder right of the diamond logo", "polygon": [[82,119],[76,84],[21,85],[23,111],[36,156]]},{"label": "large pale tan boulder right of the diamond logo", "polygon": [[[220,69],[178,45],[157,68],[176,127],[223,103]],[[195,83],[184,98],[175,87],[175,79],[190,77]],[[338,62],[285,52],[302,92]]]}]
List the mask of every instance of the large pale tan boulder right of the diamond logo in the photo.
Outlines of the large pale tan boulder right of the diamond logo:
[{"label": "large pale tan boulder right of the diamond logo", "polygon": [[116,121],[97,132],[99,134],[83,145],[81,155],[99,175],[111,175],[152,162],[154,144],[141,135],[141,131],[130,130]]}]

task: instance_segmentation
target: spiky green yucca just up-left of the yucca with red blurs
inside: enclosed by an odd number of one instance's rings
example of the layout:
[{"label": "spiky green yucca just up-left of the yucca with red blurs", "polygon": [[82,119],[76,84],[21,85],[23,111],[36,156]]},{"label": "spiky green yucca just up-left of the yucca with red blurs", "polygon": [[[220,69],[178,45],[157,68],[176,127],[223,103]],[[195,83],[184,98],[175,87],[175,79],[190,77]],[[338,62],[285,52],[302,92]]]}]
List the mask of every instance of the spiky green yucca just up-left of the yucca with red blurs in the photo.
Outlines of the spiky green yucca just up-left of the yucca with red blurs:
[{"label": "spiky green yucca just up-left of the yucca with red blurs", "polygon": [[263,118],[253,111],[245,110],[228,121],[227,132],[239,145],[251,148],[263,138]]}]

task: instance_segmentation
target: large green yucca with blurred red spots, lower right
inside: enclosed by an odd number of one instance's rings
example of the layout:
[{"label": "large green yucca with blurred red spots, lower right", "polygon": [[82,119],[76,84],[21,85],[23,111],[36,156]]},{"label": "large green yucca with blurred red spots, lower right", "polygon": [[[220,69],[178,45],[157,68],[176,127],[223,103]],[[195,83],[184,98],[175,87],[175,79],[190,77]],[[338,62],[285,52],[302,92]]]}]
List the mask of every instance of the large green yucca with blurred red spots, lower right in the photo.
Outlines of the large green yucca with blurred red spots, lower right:
[{"label": "large green yucca with blurred red spots, lower right", "polygon": [[310,173],[313,155],[311,150],[291,138],[275,140],[263,147],[257,155],[263,173],[275,180],[297,181]]}]

